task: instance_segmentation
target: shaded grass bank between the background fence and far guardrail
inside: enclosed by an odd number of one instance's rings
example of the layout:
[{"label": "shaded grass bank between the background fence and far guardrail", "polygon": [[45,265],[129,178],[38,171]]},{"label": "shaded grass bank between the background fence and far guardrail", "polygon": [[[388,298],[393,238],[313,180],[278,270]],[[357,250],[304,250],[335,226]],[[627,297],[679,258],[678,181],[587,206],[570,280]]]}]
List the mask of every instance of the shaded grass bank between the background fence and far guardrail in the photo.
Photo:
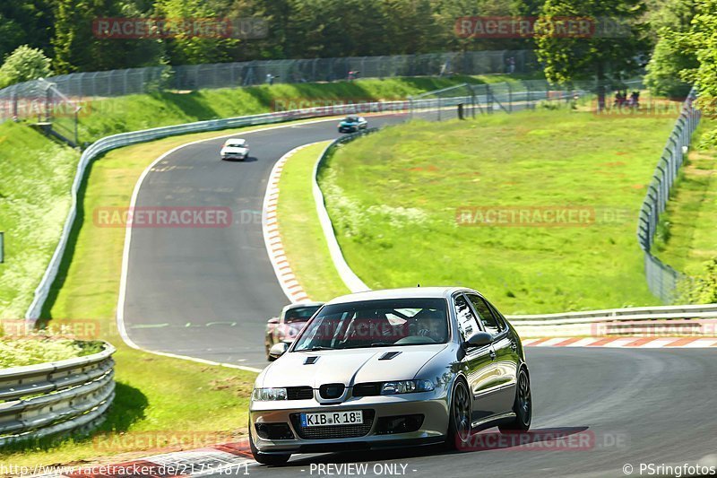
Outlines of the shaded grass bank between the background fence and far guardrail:
[{"label": "shaded grass bank between the background fence and far guardrail", "polygon": [[[130,95],[85,105],[80,117],[79,135],[81,141],[96,141],[102,136],[154,126],[266,113],[275,110],[276,105],[297,104],[298,100],[403,100],[409,95],[459,83],[496,83],[506,80],[515,80],[515,77],[386,78]],[[65,119],[64,123],[69,127],[71,122]]]}]

